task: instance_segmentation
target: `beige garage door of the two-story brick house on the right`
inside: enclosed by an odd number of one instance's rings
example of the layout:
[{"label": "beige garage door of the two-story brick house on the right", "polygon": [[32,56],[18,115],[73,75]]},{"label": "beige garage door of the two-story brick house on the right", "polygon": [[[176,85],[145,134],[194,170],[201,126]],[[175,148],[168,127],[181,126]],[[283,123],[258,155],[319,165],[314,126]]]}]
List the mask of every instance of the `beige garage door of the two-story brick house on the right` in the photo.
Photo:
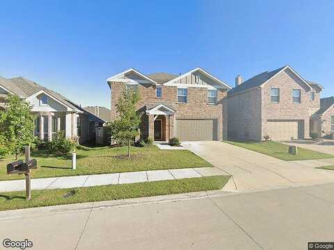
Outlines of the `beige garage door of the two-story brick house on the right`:
[{"label": "beige garage door of the two-story brick house on the right", "polygon": [[303,122],[301,121],[268,121],[267,135],[272,140],[290,140],[302,138]]}]

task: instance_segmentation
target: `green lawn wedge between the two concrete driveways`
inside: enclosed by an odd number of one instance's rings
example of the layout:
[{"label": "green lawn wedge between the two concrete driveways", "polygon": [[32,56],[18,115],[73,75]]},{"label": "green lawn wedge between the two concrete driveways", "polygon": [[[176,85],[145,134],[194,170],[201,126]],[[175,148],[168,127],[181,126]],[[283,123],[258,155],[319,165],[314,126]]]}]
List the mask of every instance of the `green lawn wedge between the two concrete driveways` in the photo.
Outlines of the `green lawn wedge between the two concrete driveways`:
[{"label": "green lawn wedge between the two concrete driveways", "polygon": [[298,155],[294,156],[289,154],[289,145],[279,142],[225,142],[238,147],[243,147],[244,149],[256,151],[258,153],[264,153],[267,156],[272,156],[280,160],[313,160],[334,158],[334,155],[303,149],[301,147],[298,147]]}]

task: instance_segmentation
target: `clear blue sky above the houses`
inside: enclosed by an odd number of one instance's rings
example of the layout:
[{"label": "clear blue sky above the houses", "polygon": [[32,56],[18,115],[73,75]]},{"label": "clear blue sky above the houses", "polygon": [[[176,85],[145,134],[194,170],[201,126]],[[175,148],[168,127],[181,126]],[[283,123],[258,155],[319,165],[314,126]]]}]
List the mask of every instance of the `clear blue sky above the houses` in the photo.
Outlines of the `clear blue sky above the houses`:
[{"label": "clear blue sky above the houses", "polygon": [[334,1],[2,1],[0,76],[110,107],[106,78],[207,69],[234,85],[289,64],[334,94]]}]

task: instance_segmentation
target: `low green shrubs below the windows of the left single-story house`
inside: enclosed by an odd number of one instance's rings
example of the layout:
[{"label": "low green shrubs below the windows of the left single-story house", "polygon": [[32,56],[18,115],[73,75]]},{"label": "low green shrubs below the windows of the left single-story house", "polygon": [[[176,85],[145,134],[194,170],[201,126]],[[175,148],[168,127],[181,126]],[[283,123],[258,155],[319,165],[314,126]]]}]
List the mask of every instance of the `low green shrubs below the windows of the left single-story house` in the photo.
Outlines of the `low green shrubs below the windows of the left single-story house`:
[{"label": "low green shrubs below the windows of the left single-story house", "polygon": [[39,150],[47,151],[48,153],[53,154],[70,153],[71,151],[74,151],[76,146],[77,142],[75,142],[75,140],[65,138],[64,131],[59,131],[56,138],[54,138],[51,142],[39,140],[36,144],[36,147]]}]

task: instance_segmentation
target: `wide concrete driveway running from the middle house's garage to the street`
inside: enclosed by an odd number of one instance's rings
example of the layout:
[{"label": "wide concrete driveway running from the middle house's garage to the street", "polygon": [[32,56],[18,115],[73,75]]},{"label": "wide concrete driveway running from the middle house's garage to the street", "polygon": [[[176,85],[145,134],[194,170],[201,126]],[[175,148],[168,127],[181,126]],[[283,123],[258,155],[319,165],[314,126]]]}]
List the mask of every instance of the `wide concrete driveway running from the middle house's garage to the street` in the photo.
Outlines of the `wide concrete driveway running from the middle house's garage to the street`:
[{"label": "wide concrete driveway running from the middle house's garage to the street", "polygon": [[[334,171],[315,169],[334,159],[284,161],[225,142],[183,142],[182,146],[232,174],[238,192],[334,183]],[[233,186],[229,185],[231,189]]]}]

